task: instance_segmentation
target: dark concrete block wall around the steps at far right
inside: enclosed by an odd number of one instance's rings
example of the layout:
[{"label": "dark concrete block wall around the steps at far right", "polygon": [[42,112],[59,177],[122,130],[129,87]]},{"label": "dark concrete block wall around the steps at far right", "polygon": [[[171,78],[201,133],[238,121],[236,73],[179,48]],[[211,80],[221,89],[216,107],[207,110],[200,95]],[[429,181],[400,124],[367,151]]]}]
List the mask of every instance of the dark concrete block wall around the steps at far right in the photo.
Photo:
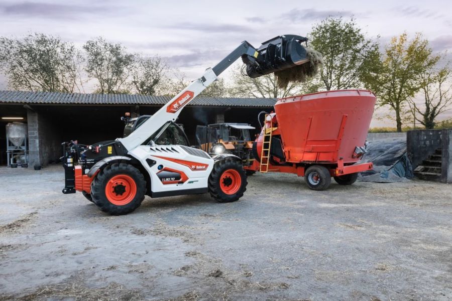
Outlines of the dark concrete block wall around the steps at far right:
[{"label": "dark concrete block wall around the steps at far right", "polygon": [[413,168],[441,148],[441,182],[452,183],[452,129],[409,130],[406,150]]}]

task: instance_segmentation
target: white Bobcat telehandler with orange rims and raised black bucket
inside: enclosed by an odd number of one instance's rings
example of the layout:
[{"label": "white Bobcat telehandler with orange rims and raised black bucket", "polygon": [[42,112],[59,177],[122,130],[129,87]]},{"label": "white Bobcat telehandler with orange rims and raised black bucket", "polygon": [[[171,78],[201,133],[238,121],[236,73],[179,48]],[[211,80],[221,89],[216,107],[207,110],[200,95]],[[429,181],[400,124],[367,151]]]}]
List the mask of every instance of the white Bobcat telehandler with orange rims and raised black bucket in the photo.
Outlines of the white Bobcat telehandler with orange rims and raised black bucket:
[{"label": "white Bobcat telehandler with orange rims and raised black bucket", "polygon": [[145,195],[156,198],[209,192],[218,202],[237,201],[247,187],[240,158],[232,154],[210,157],[201,149],[180,145],[177,128],[172,141],[165,140],[165,145],[156,141],[175,124],[183,107],[237,59],[242,58],[246,75],[252,78],[280,72],[309,62],[301,45],[306,41],[304,37],[284,35],[262,43],[258,49],[244,41],[128,136],[92,145],[64,142],[63,193],[80,191],[112,215],[134,211]]}]

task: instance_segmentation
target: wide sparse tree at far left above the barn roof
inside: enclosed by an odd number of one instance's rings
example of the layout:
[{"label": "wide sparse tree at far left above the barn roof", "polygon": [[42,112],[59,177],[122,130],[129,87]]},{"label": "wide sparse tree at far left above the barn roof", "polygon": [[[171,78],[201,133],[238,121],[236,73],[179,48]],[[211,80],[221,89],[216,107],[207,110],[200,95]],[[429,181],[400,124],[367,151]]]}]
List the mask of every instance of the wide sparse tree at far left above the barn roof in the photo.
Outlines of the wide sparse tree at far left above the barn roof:
[{"label": "wide sparse tree at far left above the barn roof", "polygon": [[0,68],[14,90],[80,92],[82,55],[60,38],[30,34],[0,38]]}]

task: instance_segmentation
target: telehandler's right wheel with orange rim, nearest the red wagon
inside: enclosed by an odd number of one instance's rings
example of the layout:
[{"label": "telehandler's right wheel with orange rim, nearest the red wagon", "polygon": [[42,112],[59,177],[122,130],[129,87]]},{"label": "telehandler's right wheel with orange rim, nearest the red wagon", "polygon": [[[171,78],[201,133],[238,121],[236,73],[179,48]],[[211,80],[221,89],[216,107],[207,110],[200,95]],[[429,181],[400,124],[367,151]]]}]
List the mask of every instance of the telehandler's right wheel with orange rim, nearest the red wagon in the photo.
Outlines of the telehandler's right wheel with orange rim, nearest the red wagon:
[{"label": "telehandler's right wheel with orange rim, nearest the red wagon", "polygon": [[210,196],[220,203],[240,199],[248,184],[243,166],[232,158],[216,162],[208,182]]}]

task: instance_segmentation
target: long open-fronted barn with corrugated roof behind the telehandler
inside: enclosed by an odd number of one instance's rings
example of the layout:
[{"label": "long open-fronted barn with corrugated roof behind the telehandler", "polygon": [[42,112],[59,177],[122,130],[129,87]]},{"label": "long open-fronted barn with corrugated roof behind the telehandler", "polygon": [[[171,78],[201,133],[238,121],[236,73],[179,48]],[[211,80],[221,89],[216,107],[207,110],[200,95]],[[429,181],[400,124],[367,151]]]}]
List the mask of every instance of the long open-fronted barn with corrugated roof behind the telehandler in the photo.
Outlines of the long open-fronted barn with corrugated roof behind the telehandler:
[{"label": "long open-fronted barn with corrugated roof behind the telehandler", "polygon": [[[0,91],[0,165],[7,165],[6,125],[27,123],[29,166],[58,162],[61,142],[91,144],[122,137],[126,112],[132,116],[154,114],[171,98],[131,94],[81,94]],[[270,112],[275,98],[197,97],[179,115],[190,143],[196,125],[246,122],[259,128],[257,115]]]}]

